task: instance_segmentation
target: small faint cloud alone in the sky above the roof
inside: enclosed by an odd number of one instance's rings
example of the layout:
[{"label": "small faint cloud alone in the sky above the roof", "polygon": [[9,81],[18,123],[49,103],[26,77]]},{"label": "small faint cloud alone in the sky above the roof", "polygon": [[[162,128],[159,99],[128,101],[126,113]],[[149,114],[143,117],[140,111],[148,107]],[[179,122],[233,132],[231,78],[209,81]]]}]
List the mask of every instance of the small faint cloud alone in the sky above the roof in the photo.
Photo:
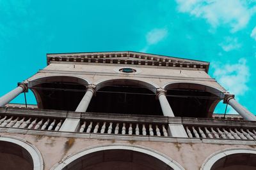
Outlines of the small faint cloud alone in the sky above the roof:
[{"label": "small faint cloud alone in the sky above the roof", "polygon": [[152,31],[149,31],[146,36],[148,45],[154,45],[158,43],[159,41],[166,38],[167,34],[168,34],[168,30],[165,28],[152,29]]}]

